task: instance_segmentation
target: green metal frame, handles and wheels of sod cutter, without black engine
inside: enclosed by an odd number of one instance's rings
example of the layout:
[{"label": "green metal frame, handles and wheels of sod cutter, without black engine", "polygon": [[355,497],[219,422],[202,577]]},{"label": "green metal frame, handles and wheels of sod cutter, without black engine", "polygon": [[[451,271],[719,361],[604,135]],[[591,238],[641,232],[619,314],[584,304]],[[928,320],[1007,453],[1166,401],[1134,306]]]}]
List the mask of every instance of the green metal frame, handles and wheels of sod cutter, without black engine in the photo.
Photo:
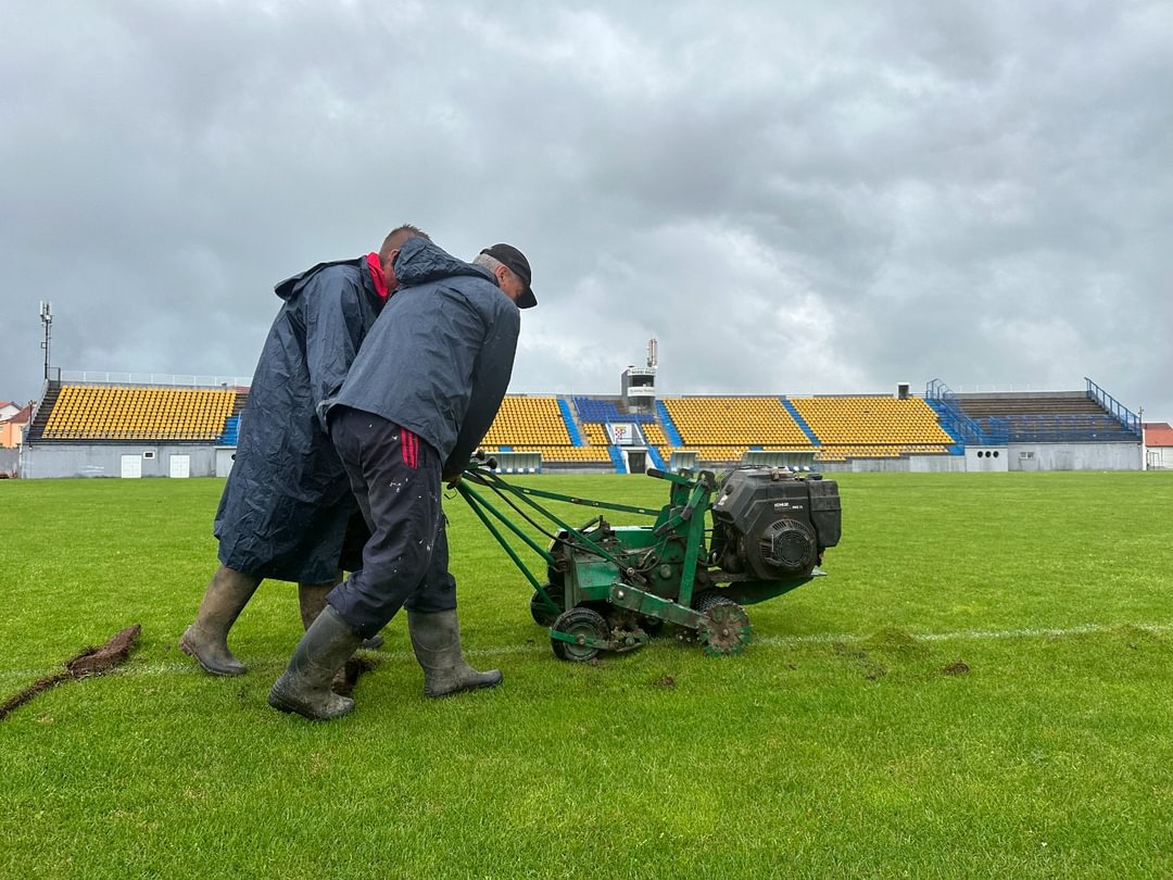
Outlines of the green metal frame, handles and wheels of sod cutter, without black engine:
[{"label": "green metal frame, handles and wheels of sod cutter, without black engine", "polygon": [[[660,509],[545,492],[504,480],[493,460],[474,459],[456,490],[504,549],[534,589],[530,612],[550,628],[555,655],[586,661],[601,651],[631,651],[665,623],[678,637],[697,639],[706,654],[738,654],[752,627],[741,605],[764,602],[822,576],[778,581],[733,575],[710,564],[706,550],[708,510],[717,492],[711,472],[647,475],[669,483],[669,503]],[[494,495],[501,507],[489,500]],[[649,526],[612,526],[603,515],[575,528],[542,501],[652,517]],[[543,546],[502,507],[549,543]],[[538,577],[507,533],[545,563]]]}]

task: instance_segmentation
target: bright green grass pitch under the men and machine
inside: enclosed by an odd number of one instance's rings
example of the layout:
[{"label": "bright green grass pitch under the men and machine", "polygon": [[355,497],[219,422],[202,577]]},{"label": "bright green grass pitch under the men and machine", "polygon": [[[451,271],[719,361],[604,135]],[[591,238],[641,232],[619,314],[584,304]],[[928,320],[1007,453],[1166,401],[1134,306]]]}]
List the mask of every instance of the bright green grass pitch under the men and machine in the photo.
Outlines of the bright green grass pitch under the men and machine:
[{"label": "bright green grass pitch under the men and machine", "polygon": [[248,676],[175,647],[222,485],[0,482],[0,699],[142,624],[0,722],[0,876],[1173,876],[1173,475],[845,474],[829,576],[750,607],[745,655],[597,665],[454,497],[465,645],[504,684],[426,699],[396,618],[325,724],[265,704],[291,584],[233,630]]}]

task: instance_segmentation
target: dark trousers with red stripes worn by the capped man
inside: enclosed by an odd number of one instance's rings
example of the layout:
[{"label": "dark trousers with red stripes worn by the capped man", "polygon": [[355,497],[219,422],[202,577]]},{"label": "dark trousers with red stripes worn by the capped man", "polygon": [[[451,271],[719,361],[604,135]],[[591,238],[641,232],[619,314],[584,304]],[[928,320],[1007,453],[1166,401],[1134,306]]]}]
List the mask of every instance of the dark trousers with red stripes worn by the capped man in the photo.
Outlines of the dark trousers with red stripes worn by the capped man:
[{"label": "dark trousers with red stripes worn by the capped man", "polygon": [[456,581],[448,574],[448,534],[440,506],[440,453],[380,415],[337,407],[330,438],[371,528],[362,568],[326,601],[364,638],[400,607],[448,611]]}]

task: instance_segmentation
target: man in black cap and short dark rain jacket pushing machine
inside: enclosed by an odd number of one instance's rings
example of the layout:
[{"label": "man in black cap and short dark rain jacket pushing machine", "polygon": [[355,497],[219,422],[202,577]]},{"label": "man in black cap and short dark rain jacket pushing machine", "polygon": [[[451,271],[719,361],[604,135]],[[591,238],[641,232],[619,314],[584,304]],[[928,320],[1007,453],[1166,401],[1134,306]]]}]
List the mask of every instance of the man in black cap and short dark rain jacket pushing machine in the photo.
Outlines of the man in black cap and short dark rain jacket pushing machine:
[{"label": "man in black cap and short dark rain jacket pushing machine", "polygon": [[501,682],[496,670],[469,666],[460,647],[440,486],[460,479],[493,424],[513,372],[517,310],[537,302],[516,248],[487,248],[474,263],[406,242],[394,263],[402,286],[323,407],[372,536],[361,570],[330,593],[270,691],[274,709],[307,718],[351,711],[331,678],[405,604],[428,696]]}]

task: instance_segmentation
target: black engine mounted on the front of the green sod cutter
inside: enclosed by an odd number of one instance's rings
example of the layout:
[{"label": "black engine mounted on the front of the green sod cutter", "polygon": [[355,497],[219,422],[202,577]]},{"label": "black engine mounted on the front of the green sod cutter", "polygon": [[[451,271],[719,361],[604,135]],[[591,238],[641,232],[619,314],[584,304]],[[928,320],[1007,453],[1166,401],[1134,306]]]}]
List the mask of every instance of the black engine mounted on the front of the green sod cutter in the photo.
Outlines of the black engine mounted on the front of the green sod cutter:
[{"label": "black engine mounted on the front of the green sod cutter", "polygon": [[762,581],[801,577],[839,543],[839,485],[787,468],[743,468],[721,483],[712,515],[711,562]]}]

